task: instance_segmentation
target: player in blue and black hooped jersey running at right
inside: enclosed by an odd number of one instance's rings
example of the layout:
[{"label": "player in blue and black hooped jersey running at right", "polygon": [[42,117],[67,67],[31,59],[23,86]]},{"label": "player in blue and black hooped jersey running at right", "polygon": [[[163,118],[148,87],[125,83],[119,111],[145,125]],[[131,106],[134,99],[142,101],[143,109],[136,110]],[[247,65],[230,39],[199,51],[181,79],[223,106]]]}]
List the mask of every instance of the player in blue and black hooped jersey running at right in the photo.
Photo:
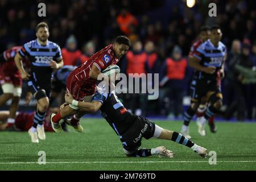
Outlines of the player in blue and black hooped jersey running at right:
[{"label": "player in blue and black hooped jersey running at right", "polygon": [[184,125],[181,132],[187,137],[188,125],[204,96],[209,98],[210,105],[204,116],[197,121],[199,134],[205,136],[205,121],[222,106],[222,94],[220,88],[220,77],[224,77],[224,61],[226,59],[226,46],[220,42],[222,32],[219,26],[213,26],[210,39],[197,47],[193,54],[193,60],[190,63],[195,68],[193,80],[191,82],[191,106],[184,113]]}]

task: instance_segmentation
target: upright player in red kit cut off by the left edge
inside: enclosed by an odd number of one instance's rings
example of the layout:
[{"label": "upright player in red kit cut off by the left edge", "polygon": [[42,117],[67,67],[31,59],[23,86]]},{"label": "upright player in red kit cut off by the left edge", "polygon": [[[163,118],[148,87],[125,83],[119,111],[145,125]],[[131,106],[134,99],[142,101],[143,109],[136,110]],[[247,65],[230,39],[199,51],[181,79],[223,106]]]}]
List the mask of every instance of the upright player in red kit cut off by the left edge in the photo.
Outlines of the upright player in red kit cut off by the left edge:
[{"label": "upright player in red kit cut off by the left edge", "polygon": [[22,47],[9,48],[0,55],[0,84],[3,90],[3,94],[0,96],[0,107],[11,98],[7,130],[15,130],[15,113],[18,110],[19,99],[22,94],[22,77],[14,62],[14,57],[20,48]]}]

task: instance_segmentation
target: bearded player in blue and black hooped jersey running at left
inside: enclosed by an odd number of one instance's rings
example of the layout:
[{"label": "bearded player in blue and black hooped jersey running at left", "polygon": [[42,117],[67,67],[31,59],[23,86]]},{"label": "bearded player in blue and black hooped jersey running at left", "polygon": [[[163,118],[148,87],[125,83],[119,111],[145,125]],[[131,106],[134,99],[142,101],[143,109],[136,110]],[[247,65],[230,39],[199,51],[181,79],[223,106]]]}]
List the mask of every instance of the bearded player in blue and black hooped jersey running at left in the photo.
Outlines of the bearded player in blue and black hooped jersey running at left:
[{"label": "bearded player in blue and black hooped jersey running at left", "polygon": [[[38,143],[39,139],[46,139],[43,121],[49,106],[52,72],[63,67],[60,47],[48,41],[49,28],[47,23],[41,22],[36,26],[36,37],[36,40],[24,44],[15,56],[15,64],[22,78],[28,80],[28,88],[38,101],[36,104],[36,114],[34,115],[34,124],[28,130],[31,141],[34,143]],[[20,61],[24,57],[28,57],[28,60],[31,62],[30,73],[24,70],[23,64]]]}]

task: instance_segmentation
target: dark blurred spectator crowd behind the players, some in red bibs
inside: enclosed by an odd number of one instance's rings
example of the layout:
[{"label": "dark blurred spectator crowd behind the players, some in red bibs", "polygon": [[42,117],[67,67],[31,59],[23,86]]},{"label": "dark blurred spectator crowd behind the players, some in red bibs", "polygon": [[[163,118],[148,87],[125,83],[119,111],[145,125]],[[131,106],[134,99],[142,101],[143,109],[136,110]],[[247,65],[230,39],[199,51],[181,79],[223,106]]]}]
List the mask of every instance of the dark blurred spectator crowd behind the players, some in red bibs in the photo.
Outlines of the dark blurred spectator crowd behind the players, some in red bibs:
[{"label": "dark blurred spectator crowd behind the players, some in red bibs", "polygon": [[[40,2],[46,3],[46,17],[38,16]],[[208,16],[210,2],[217,4],[217,17]],[[222,42],[228,47],[222,80],[228,109],[223,108],[222,117],[241,121],[256,117],[256,81],[251,79],[256,67],[253,0],[200,0],[192,9],[181,0],[1,0],[0,51],[35,39],[35,27],[41,21],[48,23],[49,40],[61,46],[66,65],[84,63],[116,36],[128,36],[132,47],[119,62],[121,71],[159,73],[160,93],[156,101],[137,94],[121,98],[137,114],[178,118],[183,115],[193,73],[187,64],[189,49],[201,26],[219,24]],[[243,74],[246,69],[252,71],[250,79]]]}]

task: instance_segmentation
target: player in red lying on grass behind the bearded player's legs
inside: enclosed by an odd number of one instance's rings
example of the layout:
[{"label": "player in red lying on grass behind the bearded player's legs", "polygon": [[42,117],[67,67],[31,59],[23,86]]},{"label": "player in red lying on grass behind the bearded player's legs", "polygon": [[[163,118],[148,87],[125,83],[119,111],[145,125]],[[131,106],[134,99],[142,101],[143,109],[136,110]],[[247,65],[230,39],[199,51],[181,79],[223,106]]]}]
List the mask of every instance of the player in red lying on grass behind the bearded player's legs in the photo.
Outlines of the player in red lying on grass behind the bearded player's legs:
[{"label": "player in red lying on grass behind the bearded player's legs", "polygon": [[[57,111],[59,111],[59,108],[54,107],[47,112],[47,117],[44,121],[45,122],[44,127],[46,131],[51,131],[51,132],[53,131],[48,116],[51,112],[57,113]],[[7,111],[7,110],[0,111],[0,131],[5,131],[7,129],[8,124],[6,123],[6,121],[7,121],[7,118],[9,118],[9,115],[10,115],[10,111]],[[32,112],[32,113],[16,112],[15,115],[16,115],[15,117],[16,128],[19,131],[28,131],[33,125],[35,112]]]}]

